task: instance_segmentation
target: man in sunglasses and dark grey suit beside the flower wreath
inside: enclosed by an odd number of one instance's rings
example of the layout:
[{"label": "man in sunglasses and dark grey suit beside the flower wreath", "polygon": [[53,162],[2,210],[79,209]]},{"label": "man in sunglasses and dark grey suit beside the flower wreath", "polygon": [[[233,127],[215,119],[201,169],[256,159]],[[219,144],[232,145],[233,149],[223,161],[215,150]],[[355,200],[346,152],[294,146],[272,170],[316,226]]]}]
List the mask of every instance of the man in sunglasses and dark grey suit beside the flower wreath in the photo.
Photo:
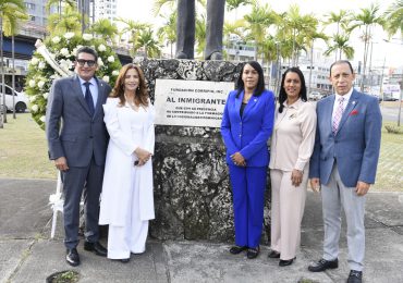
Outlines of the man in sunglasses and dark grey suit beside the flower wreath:
[{"label": "man in sunglasses and dark grey suit beside the flower wreath", "polygon": [[53,82],[46,112],[49,158],[62,173],[64,245],[66,261],[80,264],[80,202],[84,189],[84,249],[107,256],[99,244],[99,195],[102,187],[108,133],[103,124],[102,104],[111,88],[94,76],[97,52],[90,47],[77,50],[75,75]]}]

